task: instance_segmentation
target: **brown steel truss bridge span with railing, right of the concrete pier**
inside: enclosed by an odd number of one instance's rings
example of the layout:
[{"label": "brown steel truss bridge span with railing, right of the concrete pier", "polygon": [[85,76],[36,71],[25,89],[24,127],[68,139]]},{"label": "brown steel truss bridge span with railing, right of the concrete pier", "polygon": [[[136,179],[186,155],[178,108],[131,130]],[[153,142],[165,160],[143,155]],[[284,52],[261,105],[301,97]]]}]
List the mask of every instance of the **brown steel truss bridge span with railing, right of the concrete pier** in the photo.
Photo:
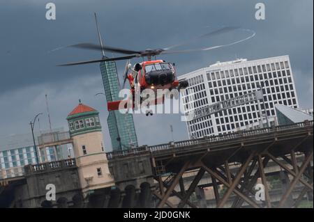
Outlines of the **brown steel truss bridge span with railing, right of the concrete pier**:
[{"label": "brown steel truss bridge span with railing, right of the concrete pier", "polygon": [[[190,196],[205,174],[211,178],[205,187],[214,189],[218,208],[243,207],[244,203],[256,208],[297,207],[308,191],[313,195],[313,121],[110,152],[107,158],[112,162],[123,161],[145,153],[151,159],[156,184],[152,192],[159,200],[156,207],[200,207],[190,203]],[[302,157],[301,161],[297,157]],[[292,178],[277,203],[272,203],[269,196],[269,164],[278,166]],[[190,171],[197,174],[186,189],[184,174]],[[259,178],[265,192],[262,203],[254,198]],[[218,184],[226,187],[223,195]],[[297,184],[301,185],[301,192],[287,206]],[[232,193],[235,198],[228,203]],[[172,196],[179,198],[178,205],[170,201]]]}]

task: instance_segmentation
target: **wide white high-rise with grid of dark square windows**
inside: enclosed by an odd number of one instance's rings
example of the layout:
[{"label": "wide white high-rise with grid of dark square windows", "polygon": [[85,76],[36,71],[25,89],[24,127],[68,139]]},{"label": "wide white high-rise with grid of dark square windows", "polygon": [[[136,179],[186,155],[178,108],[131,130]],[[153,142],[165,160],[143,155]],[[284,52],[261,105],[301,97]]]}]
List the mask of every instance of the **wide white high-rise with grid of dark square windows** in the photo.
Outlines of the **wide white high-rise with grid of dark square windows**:
[{"label": "wide white high-rise with grid of dark square windows", "polygon": [[[255,61],[237,59],[217,62],[209,67],[181,75],[189,86],[181,96],[184,111],[202,108],[262,88],[263,116],[276,116],[275,104],[299,108],[289,56],[262,58]],[[193,90],[194,95],[188,93]],[[260,120],[257,102],[221,111],[198,120],[188,121],[190,138],[234,132],[239,127]],[[274,124],[274,122],[271,122]]]}]

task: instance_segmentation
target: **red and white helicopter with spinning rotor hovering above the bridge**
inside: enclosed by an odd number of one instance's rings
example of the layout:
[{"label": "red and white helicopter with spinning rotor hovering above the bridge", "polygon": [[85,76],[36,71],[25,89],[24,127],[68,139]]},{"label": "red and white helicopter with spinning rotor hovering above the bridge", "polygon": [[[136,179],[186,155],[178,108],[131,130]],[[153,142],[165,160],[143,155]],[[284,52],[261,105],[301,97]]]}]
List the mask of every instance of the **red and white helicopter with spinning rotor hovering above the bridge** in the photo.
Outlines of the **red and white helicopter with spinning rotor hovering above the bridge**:
[{"label": "red and white helicopter with spinning rotor hovering above the bridge", "polygon": [[[128,98],[127,100],[107,102],[108,111],[114,111],[114,110],[119,110],[119,109],[135,109],[136,108],[135,101],[134,101],[135,93],[137,93],[138,91],[142,93],[142,91],[145,89],[151,89],[156,93],[157,90],[160,90],[160,89],[161,90],[163,89],[181,90],[188,87],[188,81],[186,81],[185,79],[182,79],[179,81],[177,79],[177,72],[176,72],[174,63],[169,63],[164,60],[156,59],[156,56],[163,55],[163,54],[189,53],[189,52],[194,52],[194,51],[208,51],[208,50],[217,49],[220,47],[227,47],[227,46],[242,42],[244,40],[248,40],[249,38],[253,38],[253,36],[255,35],[254,31],[251,31],[249,29],[241,29],[242,31],[251,32],[251,35],[248,36],[247,38],[238,40],[236,42],[232,42],[227,45],[216,45],[213,47],[205,47],[205,48],[200,48],[200,49],[172,50],[175,47],[181,47],[183,45],[187,45],[189,42],[199,40],[200,38],[209,38],[213,35],[220,35],[222,33],[227,33],[235,29],[239,29],[239,27],[225,26],[216,31],[211,31],[210,33],[197,36],[196,38],[193,38],[192,40],[181,42],[177,45],[172,45],[170,47],[166,47],[162,49],[144,49],[142,51],[137,51],[137,50],[130,50],[130,49],[122,49],[118,47],[104,46],[101,40],[96,15],[95,15],[95,19],[96,19],[96,27],[98,31],[98,38],[100,41],[100,45],[96,45],[93,43],[80,43],[76,45],[69,45],[67,47],[102,51],[103,58],[90,60],[90,61],[80,61],[80,62],[75,62],[75,63],[65,63],[59,66],[84,65],[84,64],[90,64],[90,63],[128,60],[126,63],[126,68],[124,70],[124,84],[122,88],[125,87],[126,80],[128,80],[130,84],[131,97]],[[104,51],[110,51],[110,52],[119,53],[119,54],[126,54],[126,56],[107,58],[105,56]],[[151,60],[151,57],[153,56],[155,57],[155,60]],[[132,68],[132,65],[130,64],[130,59],[132,58],[143,58],[144,61],[142,63],[136,63]],[[147,59],[144,59],[144,58],[147,58]],[[142,101],[143,100],[140,100],[140,104],[142,104]],[[163,104],[164,101],[165,101],[165,95],[163,95],[162,98],[156,98],[156,100],[154,100],[153,102],[150,102],[147,106],[155,105],[155,104]],[[131,103],[131,106],[128,106],[128,104],[130,103]],[[153,114],[152,111],[148,110],[146,113],[146,116],[149,116],[152,114]]]}]

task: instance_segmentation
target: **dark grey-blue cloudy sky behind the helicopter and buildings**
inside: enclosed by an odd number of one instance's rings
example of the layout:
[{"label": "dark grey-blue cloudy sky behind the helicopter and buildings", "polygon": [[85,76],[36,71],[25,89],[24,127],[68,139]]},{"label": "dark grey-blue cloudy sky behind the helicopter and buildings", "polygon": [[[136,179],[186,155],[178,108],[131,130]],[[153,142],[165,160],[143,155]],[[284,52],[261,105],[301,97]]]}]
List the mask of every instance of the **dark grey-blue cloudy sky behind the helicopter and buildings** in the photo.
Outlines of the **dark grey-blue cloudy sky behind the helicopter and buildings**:
[{"label": "dark grey-blue cloudy sky behind the helicopter and buildings", "polygon": [[[49,2],[56,6],[55,20],[45,18]],[[265,5],[264,20],[255,19],[258,2]],[[47,94],[53,128],[68,129],[66,116],[79,99],[100,111],[105,149],[111,150],[105,97],[95,96],[104,92],[99,65],[56,66],[98,59],[100,53],[82,49],[50,52],[80,42],[98,43],[94,12],[105,45],[126,49],[167,47],[221,26],[254,30],[254,38],[238,45],[162,58],[175,63],[180,75],[216,61],[289,55],[299,104],[313,108],[312,0],[0,0],[0,138],[30,132],[29,121],[40,112],[40,130],[48,129]],[[231,33],[190,47],[228,43],[236,37]],[[117,62],[120,76],[125,63]],[[140,145],[168,143],[172,140],[170,125],[174,140],[188,138],[178,114],[137,114],[134,122]]]}]

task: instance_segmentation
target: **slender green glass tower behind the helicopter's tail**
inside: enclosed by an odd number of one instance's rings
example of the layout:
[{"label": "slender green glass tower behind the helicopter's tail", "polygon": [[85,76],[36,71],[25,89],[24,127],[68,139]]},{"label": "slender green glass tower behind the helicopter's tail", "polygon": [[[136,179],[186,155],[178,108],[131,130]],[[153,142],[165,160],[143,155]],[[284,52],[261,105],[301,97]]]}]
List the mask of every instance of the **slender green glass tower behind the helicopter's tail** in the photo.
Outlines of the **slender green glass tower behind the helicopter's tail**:
[{"label": "slender green glass tower behind the helicopter's tail", "polygon": [[[107,102],[121,100],[119,98],[120,87],[116,63],[114,61],[102,62],[100,63],[100,70]],[[127,150],[137,146],[137,136],[132,114],[109,111],[107,123],[113,151]]]}]

